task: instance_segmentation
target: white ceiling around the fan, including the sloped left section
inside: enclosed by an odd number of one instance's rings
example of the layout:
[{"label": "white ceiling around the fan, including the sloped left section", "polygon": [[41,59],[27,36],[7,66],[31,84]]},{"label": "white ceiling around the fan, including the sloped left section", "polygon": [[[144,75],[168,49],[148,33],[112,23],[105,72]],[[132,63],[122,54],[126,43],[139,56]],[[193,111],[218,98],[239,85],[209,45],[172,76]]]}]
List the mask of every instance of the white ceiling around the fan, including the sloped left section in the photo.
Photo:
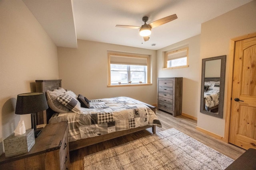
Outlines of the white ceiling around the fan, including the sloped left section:
[{"label": "white ceiling around the fan, including the sloped left section", "polygon": [[[200,34],[201,23],[252,0],[23,0],[58,47],[77,47],[76,39],[161,49]],[[176,14],[178,19],[152,29],[144,42],[141,26]],[[152,44],[156,44],[152,46]]]}]

